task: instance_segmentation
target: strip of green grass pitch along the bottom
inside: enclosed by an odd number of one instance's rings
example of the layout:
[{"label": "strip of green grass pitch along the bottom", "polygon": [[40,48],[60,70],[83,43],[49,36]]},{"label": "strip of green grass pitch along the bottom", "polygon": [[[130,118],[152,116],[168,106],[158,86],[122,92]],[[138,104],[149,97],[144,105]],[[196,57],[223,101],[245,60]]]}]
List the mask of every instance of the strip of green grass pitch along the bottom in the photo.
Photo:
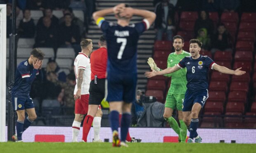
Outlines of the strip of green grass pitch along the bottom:
[{"label": "strip of green grass pitch along the bottom", "polygon": [[255,153],[256,144],[129,143],[113,148],[111,143],[0,143],[1,153]]}]

